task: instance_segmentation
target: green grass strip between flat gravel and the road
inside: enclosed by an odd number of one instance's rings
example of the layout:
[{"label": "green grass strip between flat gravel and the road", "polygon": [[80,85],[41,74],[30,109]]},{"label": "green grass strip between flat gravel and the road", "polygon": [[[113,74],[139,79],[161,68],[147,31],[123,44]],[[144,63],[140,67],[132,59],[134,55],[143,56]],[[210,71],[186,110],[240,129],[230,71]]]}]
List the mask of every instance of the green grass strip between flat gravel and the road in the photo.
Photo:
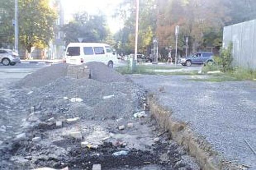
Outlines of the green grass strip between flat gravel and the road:
[{"label": "green grass strip between flat gravel and the road", "polygon": [[133,72],[130,70],[128,66],[124,67],[118,67],[115,68],[116,71],[120,72],[121,74],[149,74],[149,75],[197,75],[198,71],[173,71],[173,72],[156,72],[154,70],[171,70],[171,69],[182,69],[182,68],[174,68],[174,67],[168,67],[168,66],[142,66],[137,65],[136,70]]}]

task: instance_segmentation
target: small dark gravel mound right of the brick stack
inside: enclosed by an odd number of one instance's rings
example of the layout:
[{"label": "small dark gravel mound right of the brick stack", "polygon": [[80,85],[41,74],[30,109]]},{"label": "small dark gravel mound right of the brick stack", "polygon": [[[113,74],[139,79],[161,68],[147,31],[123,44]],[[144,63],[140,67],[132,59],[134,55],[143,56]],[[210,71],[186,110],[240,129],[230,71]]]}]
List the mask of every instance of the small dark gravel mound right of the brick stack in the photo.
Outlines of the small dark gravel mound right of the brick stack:
[{"label": "small dark gravel mound right of the brick stack", "polygon": [[114,69],[108,68],[100,62],[89,62],[85,64],[92,73],[92,79],[100,82],[125,82],[126,78]]}]

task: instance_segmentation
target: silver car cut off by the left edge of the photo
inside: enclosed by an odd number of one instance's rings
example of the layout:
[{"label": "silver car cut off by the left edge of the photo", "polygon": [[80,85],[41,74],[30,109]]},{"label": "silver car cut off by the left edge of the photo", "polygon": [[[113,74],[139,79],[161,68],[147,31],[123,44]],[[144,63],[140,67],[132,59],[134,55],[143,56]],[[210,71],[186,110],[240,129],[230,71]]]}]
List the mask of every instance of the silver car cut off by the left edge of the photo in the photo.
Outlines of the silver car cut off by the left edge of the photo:
[{"label": "silver car cut off by the left edge of the photo", "polygon": [[0,63],[4,66],[14,66],[16,63],[20,63],[21,59],[19,54],[8,49],[0,49]]}]

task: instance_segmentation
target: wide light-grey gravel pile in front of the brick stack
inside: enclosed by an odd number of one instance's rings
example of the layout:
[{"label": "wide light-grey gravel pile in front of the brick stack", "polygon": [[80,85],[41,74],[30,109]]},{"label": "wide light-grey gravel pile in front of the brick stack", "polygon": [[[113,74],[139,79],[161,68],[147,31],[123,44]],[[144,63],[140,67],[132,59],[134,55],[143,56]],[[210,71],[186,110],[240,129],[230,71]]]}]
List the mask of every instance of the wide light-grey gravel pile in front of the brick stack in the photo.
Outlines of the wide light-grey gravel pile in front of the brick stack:
[{"label": "wide light-grey gravel pile in front of the brick stack", "polygon": [[[91,79],[60,78],[18,98],[27,108],[33,106],[42,114],[52,112],[66,118],[102,120],[131,118],[133,113],[141,111],[138,103],[143,95],[142,90],[128,82],[106,84]],[[71,102],[72,98],[83,101]]]}]

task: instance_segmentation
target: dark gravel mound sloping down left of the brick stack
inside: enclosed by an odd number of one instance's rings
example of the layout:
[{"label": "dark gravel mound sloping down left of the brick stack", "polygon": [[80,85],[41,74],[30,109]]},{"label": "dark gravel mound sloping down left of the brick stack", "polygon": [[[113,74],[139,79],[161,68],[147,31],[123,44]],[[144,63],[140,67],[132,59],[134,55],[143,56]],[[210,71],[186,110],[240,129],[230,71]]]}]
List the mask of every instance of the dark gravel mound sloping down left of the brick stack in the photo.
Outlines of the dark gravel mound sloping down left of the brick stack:
[{"label": "dark gravel mound sloping down left of the brick stack", "polygon": [[52,81],[65,77],[67,73],[67,64],[57,64],[42,68],[32,74],[27,75],[16,84],[16,87],[40,87],[47,85]]}]

